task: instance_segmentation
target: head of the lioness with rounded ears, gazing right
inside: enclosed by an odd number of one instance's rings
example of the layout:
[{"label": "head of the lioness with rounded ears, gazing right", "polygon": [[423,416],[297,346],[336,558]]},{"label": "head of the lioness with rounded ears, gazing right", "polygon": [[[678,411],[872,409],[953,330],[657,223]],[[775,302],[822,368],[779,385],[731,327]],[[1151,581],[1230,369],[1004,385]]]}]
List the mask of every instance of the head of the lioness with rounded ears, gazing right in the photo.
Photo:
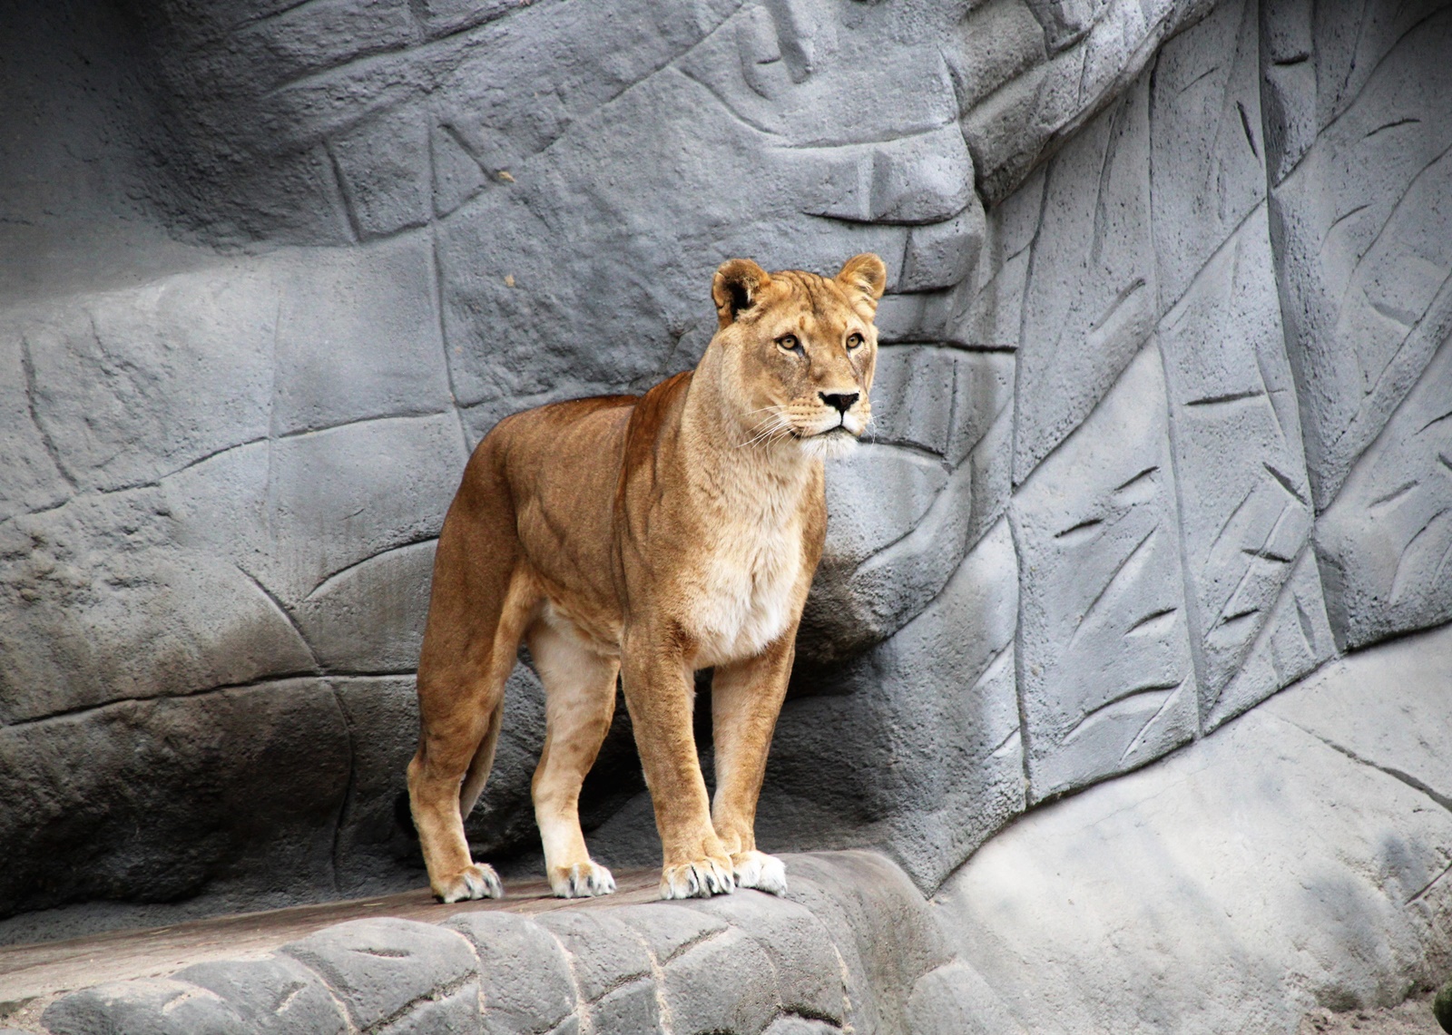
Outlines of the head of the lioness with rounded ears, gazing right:
[{"label": "head of the lioness with rounded ears, gazing right", "polygon": [[800,270],[767,273],[749,258],[716,270],[711,298],[720,328],[720,375],[741,441],[847,451],[867,430],[877,363],[873,316],[887,269],[854,255],[832,279]]}]

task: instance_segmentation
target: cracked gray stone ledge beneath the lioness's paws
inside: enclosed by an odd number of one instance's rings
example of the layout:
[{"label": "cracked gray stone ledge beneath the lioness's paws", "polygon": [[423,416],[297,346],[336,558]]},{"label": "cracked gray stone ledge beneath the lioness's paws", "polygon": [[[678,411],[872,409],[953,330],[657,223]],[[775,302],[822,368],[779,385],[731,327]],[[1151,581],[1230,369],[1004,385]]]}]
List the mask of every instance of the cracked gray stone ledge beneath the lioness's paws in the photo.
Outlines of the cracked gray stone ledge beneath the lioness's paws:
[{"label": "cracked gray stone ledge beneath the lioness's paws", "polygon": [[947,961],[928,903],[874,854],[787,865],[787,899],[351,920],[73,991],[36,1031],[906,1032],[908,990]]}]

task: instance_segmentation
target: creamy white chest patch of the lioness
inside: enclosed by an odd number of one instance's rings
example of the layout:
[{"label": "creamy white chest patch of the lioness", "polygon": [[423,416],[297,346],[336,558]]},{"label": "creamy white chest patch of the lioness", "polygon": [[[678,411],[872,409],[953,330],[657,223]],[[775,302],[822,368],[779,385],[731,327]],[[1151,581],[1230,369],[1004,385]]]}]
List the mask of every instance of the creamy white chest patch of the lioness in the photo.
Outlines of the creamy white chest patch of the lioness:
[{"label": "creamy white chest patch of the lioness", "polygon": [[693,579],[697,665],[759,655],[796,617],[802,534],[796,527],[723,528]]}]

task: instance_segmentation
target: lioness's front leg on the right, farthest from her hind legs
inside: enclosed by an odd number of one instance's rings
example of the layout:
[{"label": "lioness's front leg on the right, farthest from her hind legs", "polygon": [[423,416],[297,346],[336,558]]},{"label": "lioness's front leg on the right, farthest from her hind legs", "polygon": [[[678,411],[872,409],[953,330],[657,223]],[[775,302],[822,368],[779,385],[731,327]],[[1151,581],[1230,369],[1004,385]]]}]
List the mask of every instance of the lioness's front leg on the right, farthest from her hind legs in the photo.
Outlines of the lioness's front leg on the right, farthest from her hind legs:
[{"label": "lioness's front leg on the right, farthest from her hind legs", "polygon": [[786,893],[787,871],[781,859],[756,851],[756,798],[787,694],[794,642],[791,629],[759,656],[719,666],[711,679],[716,740],[711,820],[730,854],[736,883],[772,894]]}]

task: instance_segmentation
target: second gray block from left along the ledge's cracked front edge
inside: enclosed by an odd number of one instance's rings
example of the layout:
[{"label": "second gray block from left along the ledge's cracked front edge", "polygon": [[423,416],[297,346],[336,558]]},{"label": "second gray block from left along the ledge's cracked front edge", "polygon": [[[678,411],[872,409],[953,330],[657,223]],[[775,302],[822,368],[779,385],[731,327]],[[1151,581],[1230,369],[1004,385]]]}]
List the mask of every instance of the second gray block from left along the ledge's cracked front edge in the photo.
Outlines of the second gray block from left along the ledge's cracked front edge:
[{"label": "second gray block from left along the ledge's cracked front edge", "polygon": [[322,980],[286,957],[200,962],[174,977],[219,996],[242,1022],[240,1031],[279,1035],[347,1031],[347,1019]]}]

